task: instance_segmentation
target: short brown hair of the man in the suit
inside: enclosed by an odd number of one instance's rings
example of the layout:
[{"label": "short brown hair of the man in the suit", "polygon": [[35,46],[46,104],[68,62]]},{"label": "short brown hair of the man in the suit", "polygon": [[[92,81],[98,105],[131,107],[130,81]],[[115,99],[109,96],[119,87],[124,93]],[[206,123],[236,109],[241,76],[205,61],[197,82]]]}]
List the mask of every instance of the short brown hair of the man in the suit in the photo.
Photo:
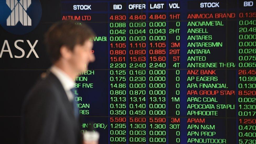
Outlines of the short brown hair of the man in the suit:
[{"label": "short brown hair of the man in the suit", "polygon": [[78,23],[80,22],[74,20],[60,21],[53,24],[46,32],[45,43],[53,63],[60,58],[62,46],[73,51],[75,45],[83,45],[86,40],[95,36],[89,26],[84,23],[77,25]]}]

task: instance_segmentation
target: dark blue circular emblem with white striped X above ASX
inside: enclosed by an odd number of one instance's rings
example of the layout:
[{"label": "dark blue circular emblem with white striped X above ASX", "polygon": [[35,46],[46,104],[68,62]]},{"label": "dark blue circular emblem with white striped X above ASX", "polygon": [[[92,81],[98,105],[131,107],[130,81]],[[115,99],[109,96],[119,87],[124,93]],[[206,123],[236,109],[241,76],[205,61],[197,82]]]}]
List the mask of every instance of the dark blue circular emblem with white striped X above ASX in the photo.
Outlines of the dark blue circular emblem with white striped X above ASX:
[{"label": "dark blue circular emblem with white striped X above ASX", "polygon": [[1,0],[0,24],[12,34],[26,34],[36,28],[42,16],[39,0]]}]

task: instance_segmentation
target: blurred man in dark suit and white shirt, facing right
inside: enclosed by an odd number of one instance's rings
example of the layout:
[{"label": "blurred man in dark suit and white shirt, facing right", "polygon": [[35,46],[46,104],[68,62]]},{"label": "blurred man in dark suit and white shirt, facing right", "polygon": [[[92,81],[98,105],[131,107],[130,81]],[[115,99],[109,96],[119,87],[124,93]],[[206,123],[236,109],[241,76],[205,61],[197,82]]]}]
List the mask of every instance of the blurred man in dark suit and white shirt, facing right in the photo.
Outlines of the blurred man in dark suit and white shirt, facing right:
[{"label": "blurred man in dark suit and white shirt, facing right", "polygon": [[22,143],[82,144],[74,77],[94,61],[94,32],[75,21],[55,23],[45,41],[53,65],[30,90],[22,108]]}]

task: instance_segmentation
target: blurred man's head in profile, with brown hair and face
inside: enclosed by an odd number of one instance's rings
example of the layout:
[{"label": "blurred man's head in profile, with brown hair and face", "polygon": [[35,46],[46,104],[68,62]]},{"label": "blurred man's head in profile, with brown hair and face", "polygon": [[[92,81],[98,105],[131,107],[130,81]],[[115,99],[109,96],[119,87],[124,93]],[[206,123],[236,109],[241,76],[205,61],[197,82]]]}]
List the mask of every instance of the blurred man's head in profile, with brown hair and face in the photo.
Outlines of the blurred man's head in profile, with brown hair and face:
[{"label": "blurred man's head in profile, with brown hair and face", "polygon": [[95,36],[87,25],[76,25],[76,21],[55,23],[45,34],[45,42],[52,63],[63,63],[75,72],[87,70],[89,62],[95,60],[91,53]]}]

